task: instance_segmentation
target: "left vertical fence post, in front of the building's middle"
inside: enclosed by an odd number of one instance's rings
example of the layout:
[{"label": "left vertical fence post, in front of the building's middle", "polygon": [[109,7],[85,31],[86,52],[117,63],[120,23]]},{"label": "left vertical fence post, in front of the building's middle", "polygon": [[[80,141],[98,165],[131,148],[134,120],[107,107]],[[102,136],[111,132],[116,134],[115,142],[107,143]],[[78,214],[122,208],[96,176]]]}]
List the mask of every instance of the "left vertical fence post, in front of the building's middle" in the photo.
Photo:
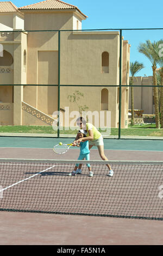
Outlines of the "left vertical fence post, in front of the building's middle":
[{"label": "left vertical fence post, in front of the building's middle", "polygon": [[58,138],[60,137],[60,31],[58,31]]}]

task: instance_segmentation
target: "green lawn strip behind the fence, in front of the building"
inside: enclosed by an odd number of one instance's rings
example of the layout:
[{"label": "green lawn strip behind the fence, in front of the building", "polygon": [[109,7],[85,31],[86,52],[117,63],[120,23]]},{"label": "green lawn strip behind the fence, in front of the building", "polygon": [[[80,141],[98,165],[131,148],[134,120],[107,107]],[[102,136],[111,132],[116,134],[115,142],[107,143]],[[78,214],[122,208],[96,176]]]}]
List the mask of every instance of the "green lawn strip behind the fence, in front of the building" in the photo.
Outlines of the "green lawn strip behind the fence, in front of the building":
[{"label": "green lawn strip behind the fence, in front of the building", "polygon": [[[60,134],[76,134],[78,130],[60,130]],[[57,134],[52,126],[0,126],[0,132],[5,133],[48,133]],[[118,128],[111,128],[110,135],[118,135]],[[121,129],[122,136],[163,136],[163,129],[155,129],[155,124],[135,125]]]}]

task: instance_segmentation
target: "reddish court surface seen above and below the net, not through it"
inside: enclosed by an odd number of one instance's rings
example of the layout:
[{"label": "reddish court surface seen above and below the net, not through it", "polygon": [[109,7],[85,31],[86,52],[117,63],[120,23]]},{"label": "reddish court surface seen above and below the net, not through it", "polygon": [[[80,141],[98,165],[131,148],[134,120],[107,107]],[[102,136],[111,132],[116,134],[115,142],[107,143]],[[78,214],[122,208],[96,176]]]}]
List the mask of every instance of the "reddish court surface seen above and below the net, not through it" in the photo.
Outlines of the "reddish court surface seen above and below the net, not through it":
[{"label": "reddish court surface seen above and below the net, not through it", "polygon": [[[1,148],[0,153],[1,158],[56,159],[51,149]],[[160,151],[105,150],[105,154],[109,160],[163,159]],[[78,151],[74,150],[73,159],[77,157]],[[70,155],[58,159],[70,159]],[[93,159],[100,160],[97,150],[91,154]],[[163,221],[155,220],[1,211],[0,227],[0,245],[163,244]]]}]

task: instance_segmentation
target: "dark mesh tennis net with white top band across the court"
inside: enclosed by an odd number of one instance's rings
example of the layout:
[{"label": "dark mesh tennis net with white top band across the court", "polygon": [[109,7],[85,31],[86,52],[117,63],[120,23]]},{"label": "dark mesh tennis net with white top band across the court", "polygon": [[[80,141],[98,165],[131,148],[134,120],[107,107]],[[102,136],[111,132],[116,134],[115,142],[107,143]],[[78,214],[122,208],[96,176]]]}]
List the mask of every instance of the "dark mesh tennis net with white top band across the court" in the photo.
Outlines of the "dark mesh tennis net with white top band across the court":
[{"label": "dark mesh tennis net with white top band across the court", "polygon": [[163,162],[0,159],[0,176],[1,211],[163,220]]}]

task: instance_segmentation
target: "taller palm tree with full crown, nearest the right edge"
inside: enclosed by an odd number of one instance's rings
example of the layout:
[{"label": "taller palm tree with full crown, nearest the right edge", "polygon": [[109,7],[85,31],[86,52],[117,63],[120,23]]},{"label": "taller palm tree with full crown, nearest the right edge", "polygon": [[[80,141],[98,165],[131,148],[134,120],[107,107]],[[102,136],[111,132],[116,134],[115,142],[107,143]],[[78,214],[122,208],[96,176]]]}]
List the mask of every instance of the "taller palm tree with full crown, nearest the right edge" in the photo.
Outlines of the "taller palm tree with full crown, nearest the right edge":
[{"label": "taller palm tree with full crown, nearest the right edge", "polygon": [[138,51],[144,54],[152,63],[153,70],[153,85],[154,87],[154,104],[155,104],[155,125],[156,129],[160,129],[160,115],[159,115],[159,94],[157,87],[157,79],[156,79],[156,65],[158,64],[158,53],[160,41],[151,42],[150,40],[146,40],[145,43],[142,43],[138,47]]}]

